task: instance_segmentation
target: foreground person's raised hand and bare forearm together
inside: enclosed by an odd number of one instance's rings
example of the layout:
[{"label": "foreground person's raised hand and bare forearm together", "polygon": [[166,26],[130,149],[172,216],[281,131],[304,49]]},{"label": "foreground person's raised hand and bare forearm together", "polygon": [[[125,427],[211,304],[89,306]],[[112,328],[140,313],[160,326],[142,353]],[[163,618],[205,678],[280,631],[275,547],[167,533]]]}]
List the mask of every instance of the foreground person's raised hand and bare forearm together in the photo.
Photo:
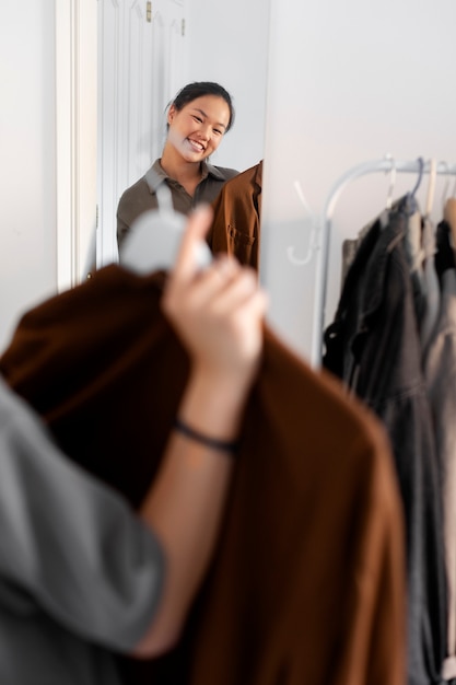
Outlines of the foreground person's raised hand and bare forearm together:
[{"label": "foreground person's raised hand and bare forearm together", "polygon": [[[162,307],[192,364],[179,418],[203,436],[233,441],[260,360],[267,299],[255,272],[235,259],[199,269],[196,248],[210,219],[208,208],[190,216]],[[211,560],[232,471],[231,454],[173,431],[141,512],[162,542],[167,569],[157,615],[137,655],[163,651],[178,637]]]}]

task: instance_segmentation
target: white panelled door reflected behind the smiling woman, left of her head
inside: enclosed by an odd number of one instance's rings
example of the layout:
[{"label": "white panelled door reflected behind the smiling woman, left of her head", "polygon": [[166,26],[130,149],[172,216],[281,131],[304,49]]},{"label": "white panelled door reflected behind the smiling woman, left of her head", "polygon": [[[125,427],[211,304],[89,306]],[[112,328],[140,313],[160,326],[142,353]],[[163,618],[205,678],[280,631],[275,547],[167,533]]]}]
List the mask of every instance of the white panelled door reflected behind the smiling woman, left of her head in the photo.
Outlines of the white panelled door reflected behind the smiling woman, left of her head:
[{"label": "white panelled door reflected behind the smiling woman, left of her head", "polygon": [[184,39],[180,0],[98,0],[98,268],[118,259],[120,195],[161,154]]}]

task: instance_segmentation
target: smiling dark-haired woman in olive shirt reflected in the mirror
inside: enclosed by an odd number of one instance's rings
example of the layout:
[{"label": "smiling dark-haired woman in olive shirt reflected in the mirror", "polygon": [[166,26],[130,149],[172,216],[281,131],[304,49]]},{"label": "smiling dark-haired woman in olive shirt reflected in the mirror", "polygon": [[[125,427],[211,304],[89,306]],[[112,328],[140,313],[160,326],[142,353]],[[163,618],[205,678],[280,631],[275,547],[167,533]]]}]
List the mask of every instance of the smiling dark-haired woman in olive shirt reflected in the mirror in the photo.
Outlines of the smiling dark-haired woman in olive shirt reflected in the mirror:
[{"label": "smiling dark-haired woman in olive shirt reflected in the mirror", "polygon": [[234,120],[230,94],[210,81],[184,86],[167,112],[167,137],[161,159],[127,188],[117,208],[119,252],[132,222],[156,209],[156,189],[166,183],[176,211],[188,214],[198,202],[210,204],[223,184],[237,174],[234,169],[208,164]]}]

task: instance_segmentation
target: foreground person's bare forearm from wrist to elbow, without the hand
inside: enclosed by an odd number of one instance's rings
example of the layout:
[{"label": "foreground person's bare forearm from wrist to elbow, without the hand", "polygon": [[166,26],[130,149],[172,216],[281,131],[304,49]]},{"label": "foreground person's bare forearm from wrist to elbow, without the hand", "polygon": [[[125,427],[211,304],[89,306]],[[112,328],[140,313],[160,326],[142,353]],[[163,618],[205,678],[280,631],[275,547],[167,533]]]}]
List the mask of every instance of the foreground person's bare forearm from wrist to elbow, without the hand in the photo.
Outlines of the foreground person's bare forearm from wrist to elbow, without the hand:
[{"label": "foreground person's bare forearm from wrist to elbow, without the hand", "polygon": [[[233,441],[245,394],[244,384],[232,378],[196,373],[179,418],[206,436]],[[233,463],[233,455],[173,431],[162,469],[141,510],[163,544],[167,570],[157,616],[136,654],[156,653],[177,638],[212,556]]]}]

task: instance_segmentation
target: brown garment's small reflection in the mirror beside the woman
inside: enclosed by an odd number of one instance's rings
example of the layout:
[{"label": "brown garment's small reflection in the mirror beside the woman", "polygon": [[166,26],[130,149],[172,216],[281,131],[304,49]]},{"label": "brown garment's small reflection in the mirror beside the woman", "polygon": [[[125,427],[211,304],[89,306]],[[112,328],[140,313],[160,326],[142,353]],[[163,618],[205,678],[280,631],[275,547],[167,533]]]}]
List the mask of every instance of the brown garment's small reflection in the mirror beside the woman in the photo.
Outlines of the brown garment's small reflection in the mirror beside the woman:
[{"label": "brown garment's small reflection in the mirror beside the woman", "polygon": [[213,253],[227,253],[258,269],[262,161],[223,186],[212,202],[214,218],[208,233]]}]

